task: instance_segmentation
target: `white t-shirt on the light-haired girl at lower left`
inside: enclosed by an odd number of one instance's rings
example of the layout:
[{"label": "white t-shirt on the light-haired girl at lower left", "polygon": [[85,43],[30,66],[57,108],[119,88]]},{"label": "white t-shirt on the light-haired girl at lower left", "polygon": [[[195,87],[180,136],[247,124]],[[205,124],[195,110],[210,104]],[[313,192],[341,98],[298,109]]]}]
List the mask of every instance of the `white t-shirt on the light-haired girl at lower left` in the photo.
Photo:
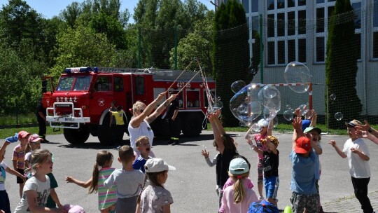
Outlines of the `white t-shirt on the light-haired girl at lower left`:
[{"label": "white t-shirt on the light-haired girl at lower left", "polygon": [[24,190],[22,191],[21,201],[18,203],[13,213],[25,213],[29,207],[27,203],[26,191],[36,191],[38,207],[45,207],[50,195],[50,179],[46,175],[46,181],[39,181],[36,177],[31,177],[25,183]]}]

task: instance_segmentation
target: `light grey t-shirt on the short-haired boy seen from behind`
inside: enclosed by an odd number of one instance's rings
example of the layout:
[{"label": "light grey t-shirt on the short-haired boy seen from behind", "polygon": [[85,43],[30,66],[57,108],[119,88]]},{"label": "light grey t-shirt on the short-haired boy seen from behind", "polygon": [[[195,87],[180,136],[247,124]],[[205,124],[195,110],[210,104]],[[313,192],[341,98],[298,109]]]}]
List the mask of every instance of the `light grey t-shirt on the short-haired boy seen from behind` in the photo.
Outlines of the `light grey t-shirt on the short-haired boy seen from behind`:
[{"label": "light grey t-shirt on the short-haired boy seen from behind", "polygon": [[117,186],[117,198],[132,198],[141,192],[144,182],[144,173],[141,170],[125,171],[114,170],[104,182],[106,188]]}]

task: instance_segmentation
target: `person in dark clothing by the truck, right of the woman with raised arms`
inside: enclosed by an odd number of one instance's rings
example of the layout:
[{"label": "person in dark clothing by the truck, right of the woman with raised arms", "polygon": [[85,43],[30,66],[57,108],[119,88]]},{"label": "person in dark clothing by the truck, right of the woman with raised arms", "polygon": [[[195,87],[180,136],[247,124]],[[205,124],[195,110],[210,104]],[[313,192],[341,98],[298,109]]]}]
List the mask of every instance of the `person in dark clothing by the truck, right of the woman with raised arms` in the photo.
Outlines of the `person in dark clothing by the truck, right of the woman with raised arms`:
[{"label": "person in dark clothing by the truck, right of the woman with raised arms", "polygon": [[177,145],[179,144],[180,131],[177,128],[180,128],[177,123],[177,115],[179,114],[179,99],[176,97],[170,104],[167,109],[167,114],[165,114],[165,121],[169,124],[169,138],[171,141],[169,144]]}]

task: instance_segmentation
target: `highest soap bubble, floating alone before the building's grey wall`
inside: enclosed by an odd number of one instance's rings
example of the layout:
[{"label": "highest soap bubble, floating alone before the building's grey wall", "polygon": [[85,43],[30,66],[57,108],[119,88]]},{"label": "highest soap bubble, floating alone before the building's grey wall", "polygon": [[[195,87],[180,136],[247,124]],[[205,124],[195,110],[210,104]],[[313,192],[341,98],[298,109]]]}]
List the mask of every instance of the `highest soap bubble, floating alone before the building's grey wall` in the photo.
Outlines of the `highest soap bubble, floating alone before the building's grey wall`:
[{"label": "highest soap bubble, floating alone before the building's grey wall", "polygon": [[[290,62],[283,74],[286,83],[310,83],[311,74],[309,68],[301,62]],[[309,84],[306,85],[289,85],[289,88],[297,93],[307,92]]]}]

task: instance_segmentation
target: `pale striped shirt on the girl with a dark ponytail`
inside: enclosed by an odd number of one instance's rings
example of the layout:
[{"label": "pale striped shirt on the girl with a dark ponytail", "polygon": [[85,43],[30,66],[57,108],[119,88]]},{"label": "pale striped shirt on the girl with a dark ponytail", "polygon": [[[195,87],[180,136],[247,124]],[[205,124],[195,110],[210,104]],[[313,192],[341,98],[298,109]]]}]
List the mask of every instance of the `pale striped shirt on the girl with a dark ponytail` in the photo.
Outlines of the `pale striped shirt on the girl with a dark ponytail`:
[{"label": "pale striped shirt on the girl with a dark ponytail", "polygon": [[115,169],[111,167],[99,170],[98,194],[99,194],[99,210],[106,209],[117,202],[117,186],[111,188],[104,187],[104,181],[108,179]]}]

